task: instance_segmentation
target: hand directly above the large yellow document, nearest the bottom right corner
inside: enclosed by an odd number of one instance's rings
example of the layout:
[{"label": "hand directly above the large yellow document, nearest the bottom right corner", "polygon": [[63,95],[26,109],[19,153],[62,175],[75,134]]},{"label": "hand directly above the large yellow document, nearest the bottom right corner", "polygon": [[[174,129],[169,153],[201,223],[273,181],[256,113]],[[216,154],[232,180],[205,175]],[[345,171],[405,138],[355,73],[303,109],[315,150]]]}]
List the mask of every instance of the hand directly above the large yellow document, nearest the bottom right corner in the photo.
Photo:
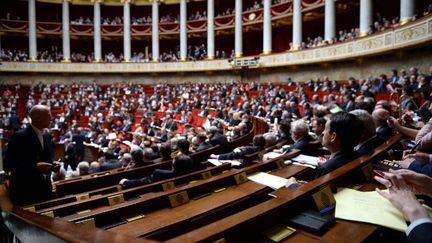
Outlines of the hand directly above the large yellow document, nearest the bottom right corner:
[{"label": "hand directly above the large yellow document, nearest the bottom right corner", "polygon": [[374,179],[389,188],[389,192],[378,188],[375,191],[389,200],[406,220],[414,222],[417,219],[429,217],[427,210],[419,203],[401,175],[385,173],[384,177],[375,176]]}]

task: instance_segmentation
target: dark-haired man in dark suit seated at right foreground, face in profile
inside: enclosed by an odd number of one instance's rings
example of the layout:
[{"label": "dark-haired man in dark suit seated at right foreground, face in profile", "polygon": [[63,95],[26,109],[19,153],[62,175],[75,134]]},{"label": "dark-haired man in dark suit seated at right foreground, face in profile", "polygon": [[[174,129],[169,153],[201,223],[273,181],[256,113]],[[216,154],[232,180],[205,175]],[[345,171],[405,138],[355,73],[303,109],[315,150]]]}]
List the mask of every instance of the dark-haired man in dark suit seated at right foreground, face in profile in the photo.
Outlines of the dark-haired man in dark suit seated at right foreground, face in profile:
[{"label": "dark-haired man in dark suit seated at right foreground, face in profile", "polygon": [[[346,112],[331,115],[326,122],[322,141],[331,153],[330,159],[319,164],[315,176],[325,175],[359,157],[353,148],[360,141],[362,131],[363,125],[355,115]],[[297,188],[302,183],[291,177],[286,186]]]}]

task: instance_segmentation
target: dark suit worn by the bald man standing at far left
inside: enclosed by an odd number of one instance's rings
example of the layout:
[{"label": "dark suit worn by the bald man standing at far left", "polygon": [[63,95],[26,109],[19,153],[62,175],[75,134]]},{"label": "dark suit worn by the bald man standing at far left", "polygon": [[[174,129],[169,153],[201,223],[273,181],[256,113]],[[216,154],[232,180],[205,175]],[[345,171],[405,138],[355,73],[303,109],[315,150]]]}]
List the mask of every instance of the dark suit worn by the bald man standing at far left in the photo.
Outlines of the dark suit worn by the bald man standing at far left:
[{"label": "dark suit worn by the bald man standing at far left", "polygon": [[15,205],[27,205],[52,196],[51,178],[36,166],[38,162],[52,163],[52,147],[43,135],[44,147],[32,126],[15,133],[6,151],[5,168],[11,171],[10,197]]}]

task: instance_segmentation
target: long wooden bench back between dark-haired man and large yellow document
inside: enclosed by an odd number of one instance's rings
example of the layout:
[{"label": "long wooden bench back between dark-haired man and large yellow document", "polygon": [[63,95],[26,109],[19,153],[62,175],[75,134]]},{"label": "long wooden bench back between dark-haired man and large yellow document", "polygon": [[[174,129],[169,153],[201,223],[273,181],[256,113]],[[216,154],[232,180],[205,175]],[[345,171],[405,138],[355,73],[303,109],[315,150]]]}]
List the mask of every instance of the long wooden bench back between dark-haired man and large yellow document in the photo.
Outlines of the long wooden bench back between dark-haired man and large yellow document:
[{"label": "long wooden bench back between dark-haired man and large yellow document", "polygon": [[325,185],[334,184],[342,178],[346,179],[352,172],[367,165],[375,156],[390,149],[400,140],[400,137],[400,134],[394,135],[373,152],[363,155],[296,190],[282,188],[273,193],[276,197],[271,200],[202,226],[194,231],[184,233],[167,242],[208,242],[220,240],[221,238],[230,241],[245,240],[247,232],[261,232],[265,227],[278,222],[287,212],[293,211],[295,205],[299,205],[299,202],[303,202],[302,200],[310,197]]}]

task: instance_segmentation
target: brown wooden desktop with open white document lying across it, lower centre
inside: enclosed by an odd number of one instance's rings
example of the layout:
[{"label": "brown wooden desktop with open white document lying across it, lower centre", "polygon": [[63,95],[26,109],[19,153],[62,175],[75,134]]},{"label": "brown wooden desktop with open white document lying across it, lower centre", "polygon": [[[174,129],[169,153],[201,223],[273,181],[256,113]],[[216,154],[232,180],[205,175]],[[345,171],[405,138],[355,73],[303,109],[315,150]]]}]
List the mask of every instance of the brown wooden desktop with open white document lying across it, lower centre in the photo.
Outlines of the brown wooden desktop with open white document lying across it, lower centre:
[{"label": "brown wooden desktop with open white document lying across it, lower centre", "polygon": [[[271,174],[280,177],[291,177],[308,170],[306,167],[289,165]],[[189,232],[203,224],[219,220],[239,212],[247,207],[271,199],[268,194],[273,189],[248,181],[233,185],[224,191],[211,193],[199,200],[176,207],[163,208],[150,212],[141,220],[129,222],[110,229],[116,233],[134,237],[149,237],[164,241],[180,233]],[[157,222],[157,223],[155,223]]]}]

